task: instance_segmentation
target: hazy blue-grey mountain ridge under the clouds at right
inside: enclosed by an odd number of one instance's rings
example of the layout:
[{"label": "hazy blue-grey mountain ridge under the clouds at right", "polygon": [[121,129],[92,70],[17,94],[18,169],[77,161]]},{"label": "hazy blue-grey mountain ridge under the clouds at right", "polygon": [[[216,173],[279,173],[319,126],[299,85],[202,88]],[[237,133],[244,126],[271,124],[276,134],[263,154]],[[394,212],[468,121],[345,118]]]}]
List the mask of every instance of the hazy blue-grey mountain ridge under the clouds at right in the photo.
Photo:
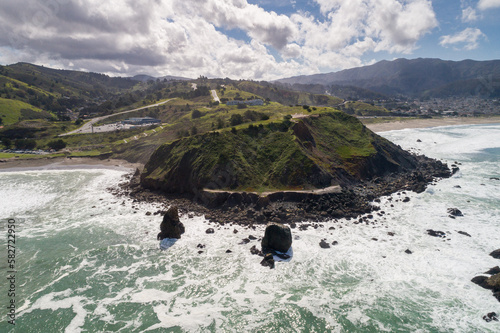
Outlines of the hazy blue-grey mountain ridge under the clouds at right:
[{"label": "hazy blue-grey mountain ridge under the clouds at right", "polygon": [[[283,84],[351,86],[383,95],[412,97],[500,96],[500,60],[397,59],[328,74],[278,80]],[[334,92],[333,92],[334,93]]]}]

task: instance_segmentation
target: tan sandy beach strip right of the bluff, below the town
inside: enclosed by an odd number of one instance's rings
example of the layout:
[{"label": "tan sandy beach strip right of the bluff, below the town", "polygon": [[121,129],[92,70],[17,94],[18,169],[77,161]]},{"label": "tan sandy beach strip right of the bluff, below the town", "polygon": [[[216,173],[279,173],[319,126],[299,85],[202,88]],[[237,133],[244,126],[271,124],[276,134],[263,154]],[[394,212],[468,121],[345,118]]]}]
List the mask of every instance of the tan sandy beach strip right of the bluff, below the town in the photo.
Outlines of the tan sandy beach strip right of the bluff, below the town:
[{"label": "tan sandy beach strip right of the bluff, below the town", "polygon": [[457,125],[479,125],[500,124],[500,116],[490,118],[432,118],[432,119],[408,119],[403,121],[390,121],[385,123],[367,124],[366,127],[378,132],[396,131],[406,128],[429,128]]}]

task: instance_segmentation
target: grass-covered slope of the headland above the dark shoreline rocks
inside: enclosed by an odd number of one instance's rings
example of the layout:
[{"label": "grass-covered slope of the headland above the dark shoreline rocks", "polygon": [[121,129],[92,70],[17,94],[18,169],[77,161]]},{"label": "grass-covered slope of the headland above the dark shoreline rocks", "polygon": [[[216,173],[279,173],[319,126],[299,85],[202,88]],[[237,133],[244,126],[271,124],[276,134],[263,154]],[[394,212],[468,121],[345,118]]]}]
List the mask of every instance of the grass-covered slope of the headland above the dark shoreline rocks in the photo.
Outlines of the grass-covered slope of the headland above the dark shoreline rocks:
[{"label": "grass-covered slope of the headland above the dark shoreline rocks", "polygon": [[141,184],[168,193],[268,191],[346,185],[412,169],[414,157],[343,112],[249,125],[160,146]]}]

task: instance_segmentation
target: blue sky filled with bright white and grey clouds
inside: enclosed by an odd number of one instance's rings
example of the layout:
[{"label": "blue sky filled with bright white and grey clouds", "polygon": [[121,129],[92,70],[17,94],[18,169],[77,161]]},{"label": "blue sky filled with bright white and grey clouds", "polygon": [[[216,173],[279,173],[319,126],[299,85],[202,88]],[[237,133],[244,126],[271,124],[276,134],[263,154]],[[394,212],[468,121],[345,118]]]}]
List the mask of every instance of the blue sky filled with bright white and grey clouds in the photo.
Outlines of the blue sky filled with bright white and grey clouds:
[{"label": "blue sky filled with bright white and grey clouds", "polygon": [[0,0],[0,64],[273,80],[500,59],[500,0]]}]

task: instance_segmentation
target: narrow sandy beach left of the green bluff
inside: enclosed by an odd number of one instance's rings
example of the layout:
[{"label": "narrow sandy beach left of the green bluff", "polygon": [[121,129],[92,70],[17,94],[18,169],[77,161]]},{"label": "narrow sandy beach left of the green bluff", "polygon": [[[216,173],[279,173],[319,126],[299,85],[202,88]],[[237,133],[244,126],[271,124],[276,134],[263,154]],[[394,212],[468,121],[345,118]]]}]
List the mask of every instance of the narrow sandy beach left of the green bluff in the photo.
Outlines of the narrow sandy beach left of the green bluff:
[{"label": "narrow sandy beach left of the green bluff", "polygon": [[98,159],[89,157],[56,157],[38,159],[10,158],[0,160],[0,172],[30,171],[30,170],[67,170],[67,169],[114,169],[135,170],[142,168],[140,163],[129,163],[117,159]]}]

